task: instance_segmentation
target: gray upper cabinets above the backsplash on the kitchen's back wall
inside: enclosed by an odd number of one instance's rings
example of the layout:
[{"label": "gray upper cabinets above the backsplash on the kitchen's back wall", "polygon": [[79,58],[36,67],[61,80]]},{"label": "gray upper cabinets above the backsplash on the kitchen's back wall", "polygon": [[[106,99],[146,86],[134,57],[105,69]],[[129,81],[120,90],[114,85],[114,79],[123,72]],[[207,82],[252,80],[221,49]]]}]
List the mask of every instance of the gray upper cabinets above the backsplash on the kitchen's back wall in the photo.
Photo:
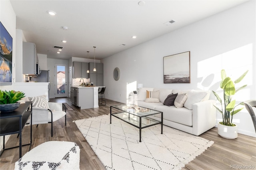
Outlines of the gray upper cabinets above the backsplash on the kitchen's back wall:
[{"label": "gray upper cabinets above the backsplash on the kitchen's back wall", "polygon": [[73,78],[88,78],[88,63],[73,61]]}]

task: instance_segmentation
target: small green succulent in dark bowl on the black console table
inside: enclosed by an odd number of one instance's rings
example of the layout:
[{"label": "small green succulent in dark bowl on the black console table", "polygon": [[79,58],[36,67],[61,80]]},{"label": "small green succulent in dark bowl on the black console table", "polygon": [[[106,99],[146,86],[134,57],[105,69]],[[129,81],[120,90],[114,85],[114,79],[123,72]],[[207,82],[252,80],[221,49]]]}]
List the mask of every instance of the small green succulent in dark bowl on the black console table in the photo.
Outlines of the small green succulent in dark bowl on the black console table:
[{"label": "small green succulent in dark bowl on the black console table", "polygon": [[22,93],[21,91],[0,90],[0,111],[8,112],[16,110],[20,106],[18,101],[23,97],[25,97],[25,93]]}]

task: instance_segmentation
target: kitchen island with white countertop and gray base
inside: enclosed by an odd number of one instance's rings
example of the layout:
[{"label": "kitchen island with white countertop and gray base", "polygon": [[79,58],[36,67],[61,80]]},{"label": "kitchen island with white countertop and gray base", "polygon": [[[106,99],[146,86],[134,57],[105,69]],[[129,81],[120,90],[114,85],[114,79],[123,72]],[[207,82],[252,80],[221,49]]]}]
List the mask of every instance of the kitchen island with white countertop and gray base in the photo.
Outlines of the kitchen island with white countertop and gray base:
[{"label": "kitchen island with white countertop and gray base", "polygon": [[71,86],[70,100],[80,109],[98,108],[98,90],[104,86]]}]

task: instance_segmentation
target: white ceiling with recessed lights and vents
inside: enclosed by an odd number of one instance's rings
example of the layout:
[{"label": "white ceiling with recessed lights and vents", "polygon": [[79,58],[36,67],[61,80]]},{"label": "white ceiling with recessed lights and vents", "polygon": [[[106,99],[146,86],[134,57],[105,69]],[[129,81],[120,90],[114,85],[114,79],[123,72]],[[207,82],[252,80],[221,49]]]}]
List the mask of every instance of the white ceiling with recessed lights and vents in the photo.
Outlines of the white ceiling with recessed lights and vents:
[{"label": "white ceiling with recessed lights and vents", "polygon": [[[16,28],[36,44],[38,53],[56,59],[87,58],[86,51],[93,58],[93,46],[96,59],[102,59],[246,1],[144,0],[139,6],[139,0],[10,0]],[[172,19],[176,22],[164,24]],[[63,47],[60,54],[53,45]]]}]

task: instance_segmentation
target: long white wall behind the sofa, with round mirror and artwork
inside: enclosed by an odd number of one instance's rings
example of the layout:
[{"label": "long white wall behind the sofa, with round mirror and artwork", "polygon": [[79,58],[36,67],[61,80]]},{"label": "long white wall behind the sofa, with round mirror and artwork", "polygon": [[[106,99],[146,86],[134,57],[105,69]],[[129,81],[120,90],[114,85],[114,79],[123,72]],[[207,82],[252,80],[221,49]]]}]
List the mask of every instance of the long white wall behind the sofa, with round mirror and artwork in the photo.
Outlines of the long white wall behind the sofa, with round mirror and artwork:
[{"label": "long white wall behind the sofa, with round mirror and artwork", "polygon": [[[234,79],[248,69],[248,75],[239,83],[248,87],[238,92],[237,102],[256,99],[255,6],[255,1],[246,2],[103,59],[106,98],[126,103],[126,87],[132,82],[144,87],[221,93],[221,69]],[[164,84],[163,57],[185,51],[190,51],[191,83]],[[120,69],[118,81],[113,79],[115,67]],[[219,113],[217,116],[221,119]],[[246,109],[235,115],[233,122],[238,124],[239,133],[256,136]]]}]

